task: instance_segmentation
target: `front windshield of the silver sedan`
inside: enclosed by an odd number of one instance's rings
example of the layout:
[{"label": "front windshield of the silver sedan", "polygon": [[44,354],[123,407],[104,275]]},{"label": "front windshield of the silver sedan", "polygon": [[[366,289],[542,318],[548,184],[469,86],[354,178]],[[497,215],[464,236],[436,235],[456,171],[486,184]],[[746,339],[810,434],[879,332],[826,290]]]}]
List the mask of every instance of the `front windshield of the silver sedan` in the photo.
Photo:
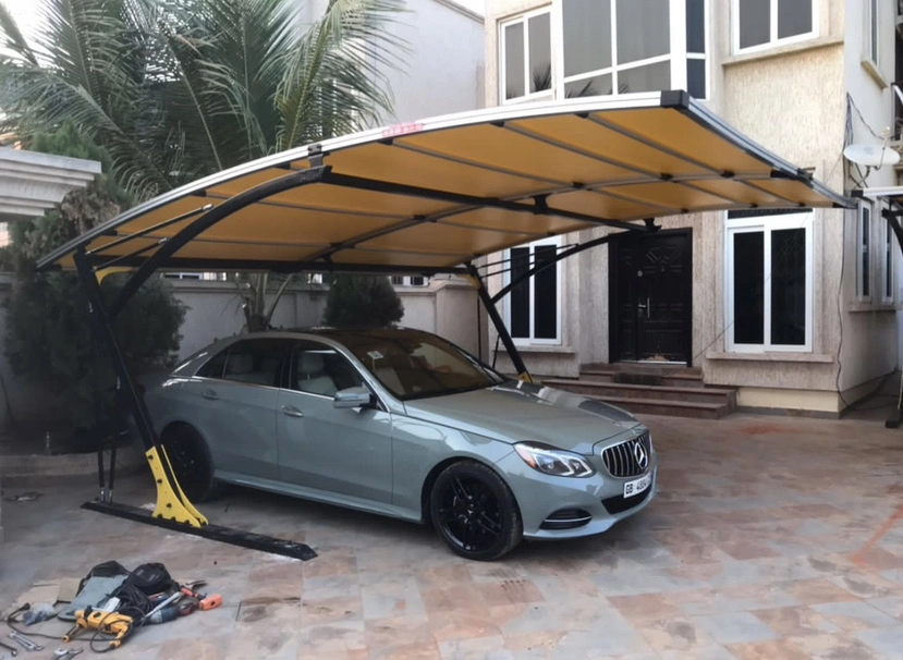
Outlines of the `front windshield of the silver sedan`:
[{"label": "front windshield of the silver sedan", "polygon": [[417,330],[335,331],[367,370],[402,401],[489,388],[505,379],[453,344]]}]

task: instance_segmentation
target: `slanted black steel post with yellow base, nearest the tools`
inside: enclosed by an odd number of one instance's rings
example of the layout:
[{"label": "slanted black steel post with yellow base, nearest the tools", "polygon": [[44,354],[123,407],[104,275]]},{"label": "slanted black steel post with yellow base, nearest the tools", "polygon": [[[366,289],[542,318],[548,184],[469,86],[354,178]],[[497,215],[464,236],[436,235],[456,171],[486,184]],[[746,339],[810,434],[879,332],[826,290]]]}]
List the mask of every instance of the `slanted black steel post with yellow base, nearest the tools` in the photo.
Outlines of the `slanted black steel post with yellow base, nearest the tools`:
[{"label": "slanted black steel post with yellow base, nearest the tools", "polygon": [[207,524],[207,518],[194,508],[194,505],[182,492],[172,465],[169,462],[166,450],[160,445],[150,414],[138,393],[135,380],[129,371],[125,358],[117,342],[110,317],[103,303],[103,293],[100,289],[100,280],[90,266],[84,248],[75,252],[75,267],[78,277],[85,288],[88,297],[88,310],[94,331],[102,345],[109,351],[110,358],[119,376],[120,387],[124,394],[130,412],[135,419],[142,442],[145,448],[145,456],[150,465],[150,472],[157,484],[157,506],[154,510],[154,517],[166,518],[178,523],[184,523],[192,527],[200,527]]}]

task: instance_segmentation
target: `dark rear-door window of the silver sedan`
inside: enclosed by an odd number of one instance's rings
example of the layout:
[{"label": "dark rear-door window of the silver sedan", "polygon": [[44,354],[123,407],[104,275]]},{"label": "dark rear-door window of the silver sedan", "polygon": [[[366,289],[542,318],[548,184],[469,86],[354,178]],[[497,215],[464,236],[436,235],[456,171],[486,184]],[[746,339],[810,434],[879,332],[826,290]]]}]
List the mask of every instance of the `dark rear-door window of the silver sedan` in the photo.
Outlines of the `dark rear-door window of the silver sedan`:
[{"label": "dark rear-door window of the silver sedan", "polygon": [[204,365],[198,376],[278,388],[282,384],[286,352],[288,344],[284,340],[240,341]]}]

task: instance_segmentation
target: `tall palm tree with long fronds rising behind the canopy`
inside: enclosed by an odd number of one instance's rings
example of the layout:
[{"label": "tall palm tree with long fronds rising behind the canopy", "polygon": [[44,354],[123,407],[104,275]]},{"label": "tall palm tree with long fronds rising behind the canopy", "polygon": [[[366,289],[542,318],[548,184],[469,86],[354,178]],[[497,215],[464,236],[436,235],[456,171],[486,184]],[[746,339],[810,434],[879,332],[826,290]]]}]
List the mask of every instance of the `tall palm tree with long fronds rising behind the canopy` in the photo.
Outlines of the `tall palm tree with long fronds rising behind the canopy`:
[{"label": "tall palm tree with long fronds rising behind the canopy", "polygon": [[[0,134],[27,147],[71,121],[137,200],[379,122],[406,52],[404,0],[328,0],[308,26],[293,0],[38,2],[34,41],[0,4]],[[272,315],[252,280],[248,329]]]}]

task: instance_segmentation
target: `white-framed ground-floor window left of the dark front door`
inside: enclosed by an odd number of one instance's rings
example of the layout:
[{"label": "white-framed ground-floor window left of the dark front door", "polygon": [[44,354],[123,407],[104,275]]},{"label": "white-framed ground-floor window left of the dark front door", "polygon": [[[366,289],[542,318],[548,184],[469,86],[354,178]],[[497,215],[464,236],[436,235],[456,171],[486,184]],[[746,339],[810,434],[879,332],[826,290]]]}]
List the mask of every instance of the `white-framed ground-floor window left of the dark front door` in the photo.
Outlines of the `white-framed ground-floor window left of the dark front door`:
[{"label": "white-framed ground-floor window left of the dark front door", "polygon": [[[558,254],[559,237],[534,241],[504,253],[509,270],[505,286],[544,259]],[[517,344],[561,343],[561,262],[549,266],[514,286],[505,296],[505,325]]]}]

